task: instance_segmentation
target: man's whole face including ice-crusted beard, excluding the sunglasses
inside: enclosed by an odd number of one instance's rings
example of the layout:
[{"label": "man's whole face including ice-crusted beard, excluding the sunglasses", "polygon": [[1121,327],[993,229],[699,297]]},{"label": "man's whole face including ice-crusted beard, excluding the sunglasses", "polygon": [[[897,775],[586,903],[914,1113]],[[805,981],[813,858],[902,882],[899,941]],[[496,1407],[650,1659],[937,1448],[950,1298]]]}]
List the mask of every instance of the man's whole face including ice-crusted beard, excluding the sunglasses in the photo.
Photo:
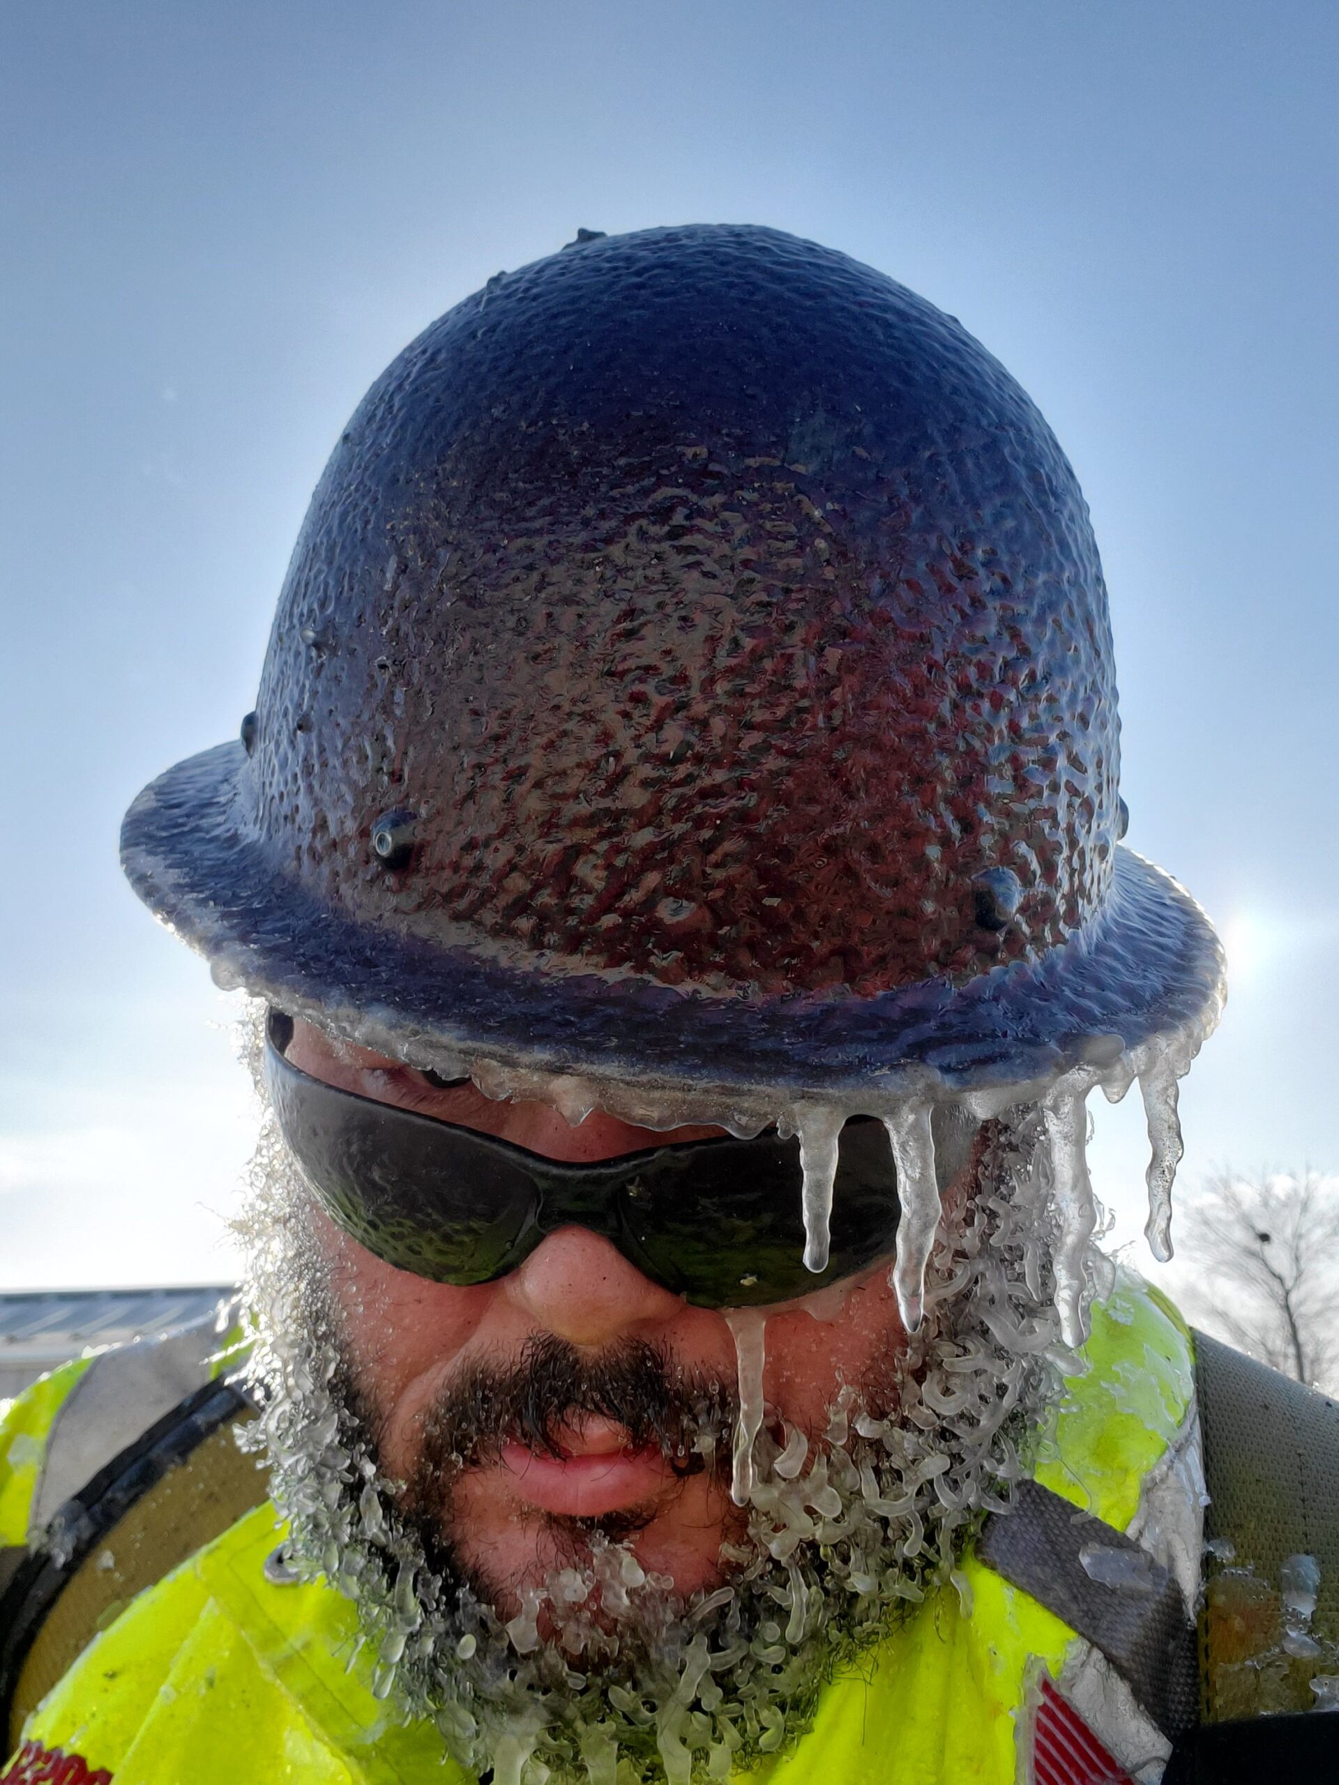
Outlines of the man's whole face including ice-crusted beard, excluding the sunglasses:
[{"label": "man's whole face including ice-crusted beard, excluding the sunglasses", "polygon": [[[302,1023],[287,1057],[561,1160],[712,1133],[573,1128]],[[520,1753],[723,1778],[803,1730],[834,1664],[950,1580],[1053,1391],[1037,1133],[1027,1110],[946,1130],[909,1339],[887,1260],[734,1312],[575,1225],[493,1283],[412,1276],[320,1212],[271,1125],[248,1219],[271,1492],[296,1576],[357,1605],[373,1692],[509,1778]]]}]

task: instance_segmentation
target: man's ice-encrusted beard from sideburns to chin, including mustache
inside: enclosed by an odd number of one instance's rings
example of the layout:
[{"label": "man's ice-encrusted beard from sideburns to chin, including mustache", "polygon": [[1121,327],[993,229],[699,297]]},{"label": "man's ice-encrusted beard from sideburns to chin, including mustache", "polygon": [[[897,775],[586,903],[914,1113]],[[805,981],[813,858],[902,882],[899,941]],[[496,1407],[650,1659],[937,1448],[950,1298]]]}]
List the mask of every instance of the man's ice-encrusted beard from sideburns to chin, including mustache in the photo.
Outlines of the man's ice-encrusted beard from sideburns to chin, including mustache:
[{"label": "man's ice-encrusted beard from sideburns to chin, including mustache", "polygon": [[[980,1514],[1028,1473],[1068,1364],[1039,1133],[1035,1112],[994,1125],[964,1228],[941,1230],[919,1332],[889,1346],[886,1382],[839,1391],[814,1444],[762,1419],[766,1316],[746,1310],[727,1316],[737,1385],[646,1346],[587,1362],[557,1341],[466,1376],[428,1419],[414,1478],[393,1483],[314,1269],[309,1192],[268,1123],[245,1237],[271,1494],[287,1567],[357,1605],[355,1664],[387,1712],[430,1719],[495,1785],[723,1780],[802,1735],[832,1669],[953,1580]],[[459,1565],[453,1485],[505,1440],[539,1449],[580,1414],[732,1480],[723,1585],[684,1599],[643,1571],[625,1526],[566,1521],[548,1578],[503,1619]]]}]

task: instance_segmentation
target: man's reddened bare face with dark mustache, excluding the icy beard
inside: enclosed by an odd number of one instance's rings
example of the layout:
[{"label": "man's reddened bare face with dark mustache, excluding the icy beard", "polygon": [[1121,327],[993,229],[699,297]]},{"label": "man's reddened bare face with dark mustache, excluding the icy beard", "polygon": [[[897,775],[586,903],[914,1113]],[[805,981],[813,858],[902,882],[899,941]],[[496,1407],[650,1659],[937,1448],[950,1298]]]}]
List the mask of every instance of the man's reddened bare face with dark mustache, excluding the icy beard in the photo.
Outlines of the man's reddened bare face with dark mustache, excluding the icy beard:
[{"label": "man's reddened bare face with dark mustache, excluding the icy beard", "polygon": [[[573,1128],[548,1105],[436,1087],[304,1023],[287,1057],[341,1089],[559,1160],[718,1132],[652,1133],[600,1112]],[[723,1314],[689,1307],[580,1226],[550,1233],[498,1282],[457,1289],[382,1264],[320,1212],[312,1225],[380,1465],[409,1483],[420,1519],[445,1526],[455,1564],[503,1617],[523,1589],[578,1562],[593,1532],[628,1544],[684,1598],[719,1583],[721,1544],[744,1528],[728,1448],[693,1449],[678,1419],[732,1405],[737,1355]],[[768,1417],[812,1449],[843,1385],[887,1401],[903,1348],[886,1264],[768,1310]],[[495,1433],[511,1430],[480,1444],[489,1419]]]}]

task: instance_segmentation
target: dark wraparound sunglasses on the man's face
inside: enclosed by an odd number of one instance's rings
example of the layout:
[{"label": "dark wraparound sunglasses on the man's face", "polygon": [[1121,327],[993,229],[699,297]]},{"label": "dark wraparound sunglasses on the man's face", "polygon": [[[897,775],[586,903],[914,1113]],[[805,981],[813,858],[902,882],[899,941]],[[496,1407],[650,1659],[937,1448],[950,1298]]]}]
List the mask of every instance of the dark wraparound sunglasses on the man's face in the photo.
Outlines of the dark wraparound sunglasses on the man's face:
[{"label": "dark wraparound sunglasses on the man's face", "polygon": [[[400,1271],[489,1283],[562,1226],[602,1233],[653,1283],[702,1308],[812,1294],[894,1251],[898,1175],[882,1121],[841,1132],[832,1250],[805,1269],[800,1142],[762,1133],[568,1164],[393,1103],[339,1091],[286,1059],[293,1021],[270,1012],[264,1073],[279,1126],[330,1219]],[[436,1080],[441,1083],[441,1080]],[[936,1114],[941,1191],[977,1123]]]}]

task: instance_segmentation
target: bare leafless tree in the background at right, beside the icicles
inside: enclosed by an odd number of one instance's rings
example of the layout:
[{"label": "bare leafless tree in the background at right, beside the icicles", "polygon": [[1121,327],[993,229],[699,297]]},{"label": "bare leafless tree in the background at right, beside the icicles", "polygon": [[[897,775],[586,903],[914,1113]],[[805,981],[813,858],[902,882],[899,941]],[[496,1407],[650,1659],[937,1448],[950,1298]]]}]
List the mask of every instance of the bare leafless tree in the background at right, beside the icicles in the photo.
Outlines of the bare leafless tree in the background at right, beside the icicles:
[{"label": "bare leafless tree in the background at right, beside the icicles", "polygon": [[1339,1389],[1339,1178],[1219,1171],[1180,1210],[1180,1298],[1209,1332]]}]

